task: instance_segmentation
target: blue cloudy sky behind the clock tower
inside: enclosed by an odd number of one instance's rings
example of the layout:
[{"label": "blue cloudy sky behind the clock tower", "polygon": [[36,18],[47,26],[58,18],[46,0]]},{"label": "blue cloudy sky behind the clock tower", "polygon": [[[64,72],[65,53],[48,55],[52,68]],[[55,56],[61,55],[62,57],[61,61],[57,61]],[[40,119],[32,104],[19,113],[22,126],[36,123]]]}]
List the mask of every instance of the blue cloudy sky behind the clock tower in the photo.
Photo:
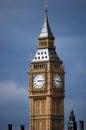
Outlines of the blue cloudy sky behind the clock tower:
[{"label": "blue cloudy sky behind the clock tower", "polygon": [[[44,22],[43,0],[0,0],[0,129],[29,127],[28,66]],[[65,66],[65,126],[71,109],[86,128],[86,0],[48,0]]]}]

